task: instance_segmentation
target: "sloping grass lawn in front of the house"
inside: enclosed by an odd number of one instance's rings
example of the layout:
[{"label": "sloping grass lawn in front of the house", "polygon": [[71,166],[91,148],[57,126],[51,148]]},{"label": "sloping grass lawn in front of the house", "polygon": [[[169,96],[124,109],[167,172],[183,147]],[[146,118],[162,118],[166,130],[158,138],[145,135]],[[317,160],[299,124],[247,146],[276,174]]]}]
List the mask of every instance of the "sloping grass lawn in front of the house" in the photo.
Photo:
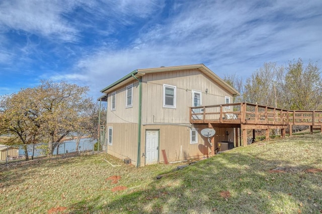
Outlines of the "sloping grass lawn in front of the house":
[{"label": "sloping grass lawn in front of the house", "polygon": [[[319,213],[322,135],[239,147],[194,165],[139,169],[106,154],[0,169],[1,213]],[[120,167],[112,167],[104,159]],[[270,171],[272,169],[278,169]],[[155,177],[167,174],[157,180]],[[108,177],[121,176],[117,183]],[[111,191],[125,186],[122,191]]]}]

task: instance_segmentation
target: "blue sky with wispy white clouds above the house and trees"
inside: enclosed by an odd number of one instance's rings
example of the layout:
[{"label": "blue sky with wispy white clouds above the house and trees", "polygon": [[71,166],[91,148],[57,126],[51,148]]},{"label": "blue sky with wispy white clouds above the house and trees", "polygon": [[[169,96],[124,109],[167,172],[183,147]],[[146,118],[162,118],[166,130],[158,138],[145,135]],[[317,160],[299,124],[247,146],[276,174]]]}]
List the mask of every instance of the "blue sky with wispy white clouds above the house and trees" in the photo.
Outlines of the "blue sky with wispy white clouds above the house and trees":
[{"label": "blue sky with wispy white clouds above the house and trees", "polygon": [[203,63],[246,78],[265,62],[322,66],[322,1],[0,0],[0,95],[41,79],[90,87]]}]

